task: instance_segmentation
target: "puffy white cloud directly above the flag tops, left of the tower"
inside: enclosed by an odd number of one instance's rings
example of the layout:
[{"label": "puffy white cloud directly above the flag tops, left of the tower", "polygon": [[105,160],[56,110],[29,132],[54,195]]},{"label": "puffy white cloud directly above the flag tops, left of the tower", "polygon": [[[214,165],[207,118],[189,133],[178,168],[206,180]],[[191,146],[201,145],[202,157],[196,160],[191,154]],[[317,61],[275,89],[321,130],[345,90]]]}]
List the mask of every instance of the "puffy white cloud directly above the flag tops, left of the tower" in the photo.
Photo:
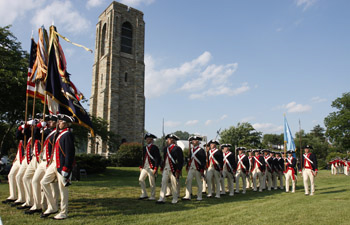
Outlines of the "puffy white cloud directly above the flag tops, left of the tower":
[{"label": "puffy white cloud directly above the flag tops, left of the tower", "polygon": [[43,24],[49,27],[52,22],[60,27],[58,32],[78,34],[86,32],[90,27],[90,22],[68,0],[50,2],[46,7],[37,10],[31,20],[36,27]]}]

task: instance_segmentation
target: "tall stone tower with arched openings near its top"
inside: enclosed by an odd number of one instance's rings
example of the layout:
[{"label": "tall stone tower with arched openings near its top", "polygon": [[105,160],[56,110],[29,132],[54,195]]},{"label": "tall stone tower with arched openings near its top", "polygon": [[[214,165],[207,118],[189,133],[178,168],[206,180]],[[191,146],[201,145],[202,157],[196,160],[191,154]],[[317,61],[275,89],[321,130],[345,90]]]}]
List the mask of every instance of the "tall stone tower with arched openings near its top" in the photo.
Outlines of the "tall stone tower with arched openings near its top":
[{"label": "tall stone tower with arched openings near its top", "polygon": [[[96,25],[90,113],[108,121],[110,131],[141,143],[145,123],[143,13],[112,2]],[[88,153],[108,154],[97,136]]]}]

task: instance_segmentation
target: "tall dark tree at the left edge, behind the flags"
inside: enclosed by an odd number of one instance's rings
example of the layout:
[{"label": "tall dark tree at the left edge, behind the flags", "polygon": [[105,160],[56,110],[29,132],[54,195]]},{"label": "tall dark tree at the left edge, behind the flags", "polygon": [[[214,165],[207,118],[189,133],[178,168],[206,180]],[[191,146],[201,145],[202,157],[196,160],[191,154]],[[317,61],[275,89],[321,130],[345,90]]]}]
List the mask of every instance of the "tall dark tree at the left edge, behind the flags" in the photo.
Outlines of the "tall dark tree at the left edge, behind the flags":
[{"label": "tall dark tree at the left edge, behind the flags", "polygon": [[6,154],[9,148],[16,148],[7,137],[13,136],[10,133],[15,132],[18,121],[24,120],[29,58],[10,26],[0,27],[0,58],[0,151]]}]

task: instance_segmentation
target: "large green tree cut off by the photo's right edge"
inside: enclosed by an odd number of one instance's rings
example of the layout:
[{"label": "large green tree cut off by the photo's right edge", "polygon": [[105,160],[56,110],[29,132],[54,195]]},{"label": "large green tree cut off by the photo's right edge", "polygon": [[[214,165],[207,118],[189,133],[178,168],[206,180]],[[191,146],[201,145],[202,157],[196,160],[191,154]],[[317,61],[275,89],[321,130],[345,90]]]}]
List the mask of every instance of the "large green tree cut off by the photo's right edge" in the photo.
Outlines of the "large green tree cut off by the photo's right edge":
[{"label": "large green tree cut off by the photo's right edge", "polygon": [[335,99],[332,107],[338,111],[330,113],[324,119],[326,136],[340,151],[345,152],[350,149],[350,92]]}]

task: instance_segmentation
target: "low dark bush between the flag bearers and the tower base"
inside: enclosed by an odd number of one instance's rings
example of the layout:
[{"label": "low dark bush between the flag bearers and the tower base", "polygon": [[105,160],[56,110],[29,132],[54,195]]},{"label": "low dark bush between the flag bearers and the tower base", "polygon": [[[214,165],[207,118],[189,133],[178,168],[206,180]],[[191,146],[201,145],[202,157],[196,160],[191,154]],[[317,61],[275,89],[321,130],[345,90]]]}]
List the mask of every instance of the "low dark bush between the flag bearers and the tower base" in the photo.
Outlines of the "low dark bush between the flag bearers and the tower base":
[{"label": "low dark bush between the flag bearers and the tower base", "polygon": [[106,170],[109,160],[95,154],[78,154],[75,161],[80,169],[85,169],[88,174],[101,173]]}]

